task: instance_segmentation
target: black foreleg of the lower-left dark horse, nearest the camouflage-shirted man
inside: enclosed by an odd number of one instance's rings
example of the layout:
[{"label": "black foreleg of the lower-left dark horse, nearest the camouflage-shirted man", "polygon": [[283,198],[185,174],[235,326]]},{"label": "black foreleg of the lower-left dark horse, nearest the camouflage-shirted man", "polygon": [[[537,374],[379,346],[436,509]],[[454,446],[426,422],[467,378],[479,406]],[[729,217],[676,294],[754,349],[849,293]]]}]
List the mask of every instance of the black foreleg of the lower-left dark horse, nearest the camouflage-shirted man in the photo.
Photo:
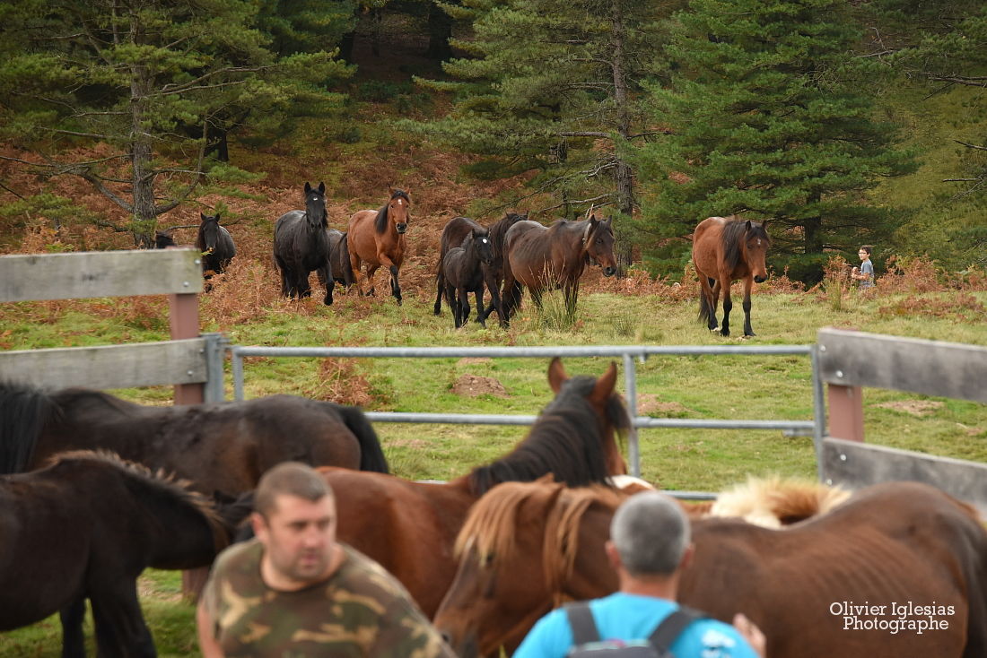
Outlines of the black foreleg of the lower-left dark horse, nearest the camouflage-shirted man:
[{"label": "black foreleg of the lower-left dark horse, nearest the camouflage-shirted man", "polygon": [[90,601],[100,658],[156,658],[154,639],[140,611],[136,580],[124,577],[123,582],[104,584]]}]

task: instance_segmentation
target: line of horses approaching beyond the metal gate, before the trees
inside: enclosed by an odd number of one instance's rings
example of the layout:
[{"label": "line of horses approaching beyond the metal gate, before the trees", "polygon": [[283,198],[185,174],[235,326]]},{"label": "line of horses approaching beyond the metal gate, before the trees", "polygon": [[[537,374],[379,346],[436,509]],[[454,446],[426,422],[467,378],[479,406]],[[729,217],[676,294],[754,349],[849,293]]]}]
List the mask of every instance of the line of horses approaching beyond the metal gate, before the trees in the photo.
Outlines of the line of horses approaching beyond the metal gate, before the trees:
[{"label": "line of horses approaching beyond the metal gate, before the trees", "polygon": [[[408,251],[406,234],[411,218],[411,195],[391,188],[386,203],[376,210],[358,210],[346,230],[329,227],[326,184],[304,186],[304,210],[290,210],[274,223],[273,264],[281,279],[281,295],[312,295],[309,276],[316,272],[325,287],[323,303],[333,304],[337,283],[356,286],[360,294],[373,295],[374,274],[381,267],[389,276],[391,294],[402,303],[399,274]],[[219,215],[200,214],[196,246],[202,252],[202,271],[208,278],[222,272],[236,255],[229,232],[219,225]],[[740,220],[736,216],[709,217],[693,234],[692,262],[700,281],[701,322],[722,335],[730,334],[730,283],[743,284],[744,335],[754,335],[750,323],[750,293],[754,282],[768,278],[766,256],[771,247],[767,222]],[[156,247],[175,246],[170,232],[158,232]],[[434,314],[441,314],[442,299],[452,311],[456,329],[471,314],[469,295],[476,303],[476,321],[487,326],[492,313],[501,327],[508,327],[521,303],[522,286],[541,308],[546,290],[563,291],[566,313],[573,317],[578,301],[579,278],[590,263],[604,276],[617,273],[611,218],[556,220],[551,226],[528,219],[527,214],[507,213],[490,227],[468,217],[454,217],[442,229],[435,265]],[[364,285],[369,286],[366,293]],[[485,294],[490,305],[485,306]],[[722,298],[723,317],[717,322]]]}]

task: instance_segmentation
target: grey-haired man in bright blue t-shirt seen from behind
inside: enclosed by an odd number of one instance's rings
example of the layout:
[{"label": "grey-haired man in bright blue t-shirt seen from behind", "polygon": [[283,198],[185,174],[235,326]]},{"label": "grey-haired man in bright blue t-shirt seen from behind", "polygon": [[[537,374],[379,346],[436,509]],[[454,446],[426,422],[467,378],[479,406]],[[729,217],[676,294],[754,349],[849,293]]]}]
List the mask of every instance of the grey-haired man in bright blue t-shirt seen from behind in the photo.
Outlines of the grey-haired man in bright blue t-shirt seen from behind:
[{"label": "grey-haired man in bright blue t-shirt seen from behind", "polygon": [[[610,538],[606,552],[619,576],[620,591],[594,599],[589,609],[601,639],[646,639],[679,607],[679,573],[693,553],[689,520],[669,496],[645,491],[618,508]],[[559,609],[535,624],[514,658],[564,658],[572,644],[566,611]],[[764,645],[760,629],[738,615],[733,626],[711,619],[693,621],[669,648],[676,658],[756,658],[763,655]]]}]

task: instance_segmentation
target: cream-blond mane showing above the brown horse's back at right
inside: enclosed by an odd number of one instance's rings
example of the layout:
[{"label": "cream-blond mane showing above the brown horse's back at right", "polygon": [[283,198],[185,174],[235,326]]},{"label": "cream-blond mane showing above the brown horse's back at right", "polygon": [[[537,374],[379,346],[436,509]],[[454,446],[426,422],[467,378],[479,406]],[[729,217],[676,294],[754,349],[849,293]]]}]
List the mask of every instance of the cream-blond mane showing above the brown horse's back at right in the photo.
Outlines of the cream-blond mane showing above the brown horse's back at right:
[{"label": "cream-blond mane showing above the brown horse's back at right", "polygon": [[828,513],[845,502],[850,491],[814,480],[770,475],[747,481],[717,496],[709,516],[740,517],[764,528],[783,528]]}]

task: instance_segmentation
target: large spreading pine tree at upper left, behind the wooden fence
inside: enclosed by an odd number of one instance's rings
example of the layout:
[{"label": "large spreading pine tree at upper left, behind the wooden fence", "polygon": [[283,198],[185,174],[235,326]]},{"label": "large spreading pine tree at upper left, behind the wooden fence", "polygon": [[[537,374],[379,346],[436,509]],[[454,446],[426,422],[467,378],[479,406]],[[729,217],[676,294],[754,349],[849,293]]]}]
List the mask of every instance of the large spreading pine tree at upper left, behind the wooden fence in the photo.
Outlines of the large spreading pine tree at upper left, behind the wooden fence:
[{"label": "large spreading pine tree at upper left, behind the wooden fence", "polygon": [[[40,176],[91,183],[130,215],[117,228],[149,247],[157,217],[206,178],[243,175],[205,160],[229,116],[337,100],[325,83],[345,67],[324,51],[274,56],[257,12],[251,0],[6,5],[0,137],[33,152],[21,162]],[[84,160],[71,150],[93,143],[113,153]]]}]

